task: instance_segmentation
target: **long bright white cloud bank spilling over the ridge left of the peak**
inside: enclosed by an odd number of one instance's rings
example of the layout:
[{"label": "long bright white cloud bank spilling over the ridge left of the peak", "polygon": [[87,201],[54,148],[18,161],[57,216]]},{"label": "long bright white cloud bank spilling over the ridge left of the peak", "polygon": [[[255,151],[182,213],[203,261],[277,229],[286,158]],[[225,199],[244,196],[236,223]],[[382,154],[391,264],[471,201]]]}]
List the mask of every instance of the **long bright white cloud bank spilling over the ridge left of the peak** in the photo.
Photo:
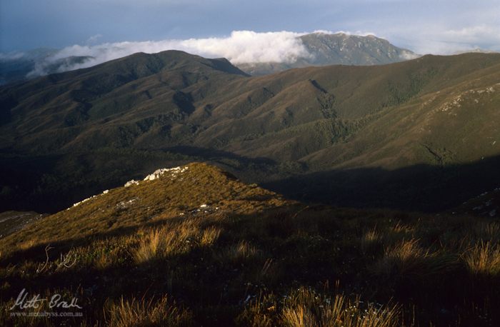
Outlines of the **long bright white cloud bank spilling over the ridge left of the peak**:
[{"label": "long bright white cloud bank spilling over the ridge left of the peak", "polygon": [[[54,72],[81,69],[101,64],[112,59],[129,56],[136,52],[154,54],[165,50],[181,50],[206,58],[224,57],[233,64],[279,62],[291,63],[298,58],[309,58],[311,54],[302,44],[299,36],[305,33],[289,31],[257,33],[254,31],[233,31],[227,37],[207,39],[116,42],[99,45],[74,45],[61,49],[36,63],[28,77]],[[86,57],[77,63],[63,61],[69,57]]]}]

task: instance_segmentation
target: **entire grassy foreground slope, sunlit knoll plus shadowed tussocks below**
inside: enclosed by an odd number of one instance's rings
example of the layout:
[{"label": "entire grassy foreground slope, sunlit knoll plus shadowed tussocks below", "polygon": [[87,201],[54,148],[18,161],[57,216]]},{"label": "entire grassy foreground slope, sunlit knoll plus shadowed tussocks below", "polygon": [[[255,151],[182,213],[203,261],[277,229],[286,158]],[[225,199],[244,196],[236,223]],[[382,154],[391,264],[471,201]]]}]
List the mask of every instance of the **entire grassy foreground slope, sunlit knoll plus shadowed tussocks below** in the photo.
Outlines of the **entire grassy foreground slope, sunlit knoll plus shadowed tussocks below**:
[{"label": "entire grassy foreground slope, sunlit knoll plus shadowed tussocks below", "polygon": [[[0,239],[0,325],[500,323],[496,219],[305,206],[187,167]],[[11,317],[22,288],[84,316]]]}]

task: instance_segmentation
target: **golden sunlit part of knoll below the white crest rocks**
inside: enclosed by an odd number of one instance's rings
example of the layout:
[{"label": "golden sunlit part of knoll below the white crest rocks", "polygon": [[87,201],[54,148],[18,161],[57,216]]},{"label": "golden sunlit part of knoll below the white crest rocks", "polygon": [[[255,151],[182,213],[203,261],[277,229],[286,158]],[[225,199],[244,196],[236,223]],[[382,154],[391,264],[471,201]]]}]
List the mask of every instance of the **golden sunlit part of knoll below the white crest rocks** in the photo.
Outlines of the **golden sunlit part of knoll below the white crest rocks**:
[{"label": "golden sunlit part of knoll below the white crest rocks", "polygon": [[[254,184],[246,186],[219,168],[206,164],[186,167],[182,173],[167,172],[153,181],[111,189],[34,223],[23,233],[3,241],[6,248],[22,247],[26,243],[33,245],[84,238],[192,213],[246,213],[287,202],[276,193]],[[201,208],[202,205],[206,207]]]}]

